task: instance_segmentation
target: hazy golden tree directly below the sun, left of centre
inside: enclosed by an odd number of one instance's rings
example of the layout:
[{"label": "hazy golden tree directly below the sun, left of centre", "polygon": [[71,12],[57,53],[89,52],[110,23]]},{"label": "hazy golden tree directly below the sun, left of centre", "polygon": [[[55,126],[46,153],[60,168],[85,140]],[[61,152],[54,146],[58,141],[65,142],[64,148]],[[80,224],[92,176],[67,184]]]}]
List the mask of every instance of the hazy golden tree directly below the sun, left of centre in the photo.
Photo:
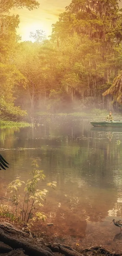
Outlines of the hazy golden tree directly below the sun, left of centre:
[{"label": "hazy golden tree directly below the sun, left of centre", "polygon": [[46,102],[46,94],[55,87],[55,67],[58,58],[54,49],[46,44],[23,42],[19,45],[15,55],[15,65],[26,77],[24,87],[30,100],[31,112],[40,98]]}]

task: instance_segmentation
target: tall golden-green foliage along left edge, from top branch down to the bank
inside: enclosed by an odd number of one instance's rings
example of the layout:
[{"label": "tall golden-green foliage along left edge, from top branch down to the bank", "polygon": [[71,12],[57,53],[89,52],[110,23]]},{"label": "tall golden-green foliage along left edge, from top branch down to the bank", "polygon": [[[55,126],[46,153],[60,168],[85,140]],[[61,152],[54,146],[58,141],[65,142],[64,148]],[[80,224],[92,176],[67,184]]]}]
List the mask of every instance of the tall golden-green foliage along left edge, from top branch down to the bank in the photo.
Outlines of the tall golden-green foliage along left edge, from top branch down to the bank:
[{"label": "tall golden-green foliage along left edge, from top branch down to the bank", "polygon": [[18,15],[9,15],[12,8],[28,8],[32,10],[37,8],[39,3],[36,0],[1,0],[1,27],[0,27],[0,114],[3,118],[17,120],[26,115],[26,111],[14,106],[15,95],[18,87],[25,86],[25,77],[13,65],[15,51],[18,41],[21,39],[16,34],[16,29],[20,22]]}]

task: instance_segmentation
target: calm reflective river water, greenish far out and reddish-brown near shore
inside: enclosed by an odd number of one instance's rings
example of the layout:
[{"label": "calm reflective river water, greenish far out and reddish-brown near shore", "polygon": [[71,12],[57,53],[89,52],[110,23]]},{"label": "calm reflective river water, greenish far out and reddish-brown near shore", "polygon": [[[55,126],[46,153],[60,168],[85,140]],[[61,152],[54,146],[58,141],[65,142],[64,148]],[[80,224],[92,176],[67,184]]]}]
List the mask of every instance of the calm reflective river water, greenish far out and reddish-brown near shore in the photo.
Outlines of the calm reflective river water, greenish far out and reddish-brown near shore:
[{"label": "calm reflective river water, greenish far out and reddish-brown near shore", "polygon": [[[40,117],[34,128],[1,129],[0,148],[9,150],[0,153],[10,168],[0,172],[0,200],[11,205],[6,186],[18,176],[26,182],[32,160],[38,159],[46,175],[39,188],[57,181],[42,209],[47,221],[35,224],[41,237],[120,252],[122,234],[110,222],[122,219],[122,143],[117,143],[122,128],[95,129],[88,119]],[[54,225],[47,226],[49,222]]]}]

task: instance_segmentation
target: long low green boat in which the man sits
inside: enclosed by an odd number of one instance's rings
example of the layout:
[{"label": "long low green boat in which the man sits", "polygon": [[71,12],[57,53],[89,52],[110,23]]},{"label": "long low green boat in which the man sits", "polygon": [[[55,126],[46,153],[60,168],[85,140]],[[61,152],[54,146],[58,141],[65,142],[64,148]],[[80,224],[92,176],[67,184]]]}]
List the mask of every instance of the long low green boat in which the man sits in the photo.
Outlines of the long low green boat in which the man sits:
[{"label": "long low green boat in which the man sits", "polygon": [[122,121],[91,121],[90,123],[99,127],[122,127]]}]

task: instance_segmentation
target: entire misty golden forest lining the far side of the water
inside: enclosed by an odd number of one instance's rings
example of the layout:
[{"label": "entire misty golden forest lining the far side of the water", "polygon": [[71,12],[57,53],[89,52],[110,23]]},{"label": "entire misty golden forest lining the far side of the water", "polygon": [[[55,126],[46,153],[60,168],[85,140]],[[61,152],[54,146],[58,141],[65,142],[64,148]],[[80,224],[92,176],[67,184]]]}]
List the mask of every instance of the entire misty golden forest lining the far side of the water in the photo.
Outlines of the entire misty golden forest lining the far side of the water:
[{"label": "entire misty golden forest lining the far side of the water", "polygon": [[[4,4],[5,3],[5,4]],[[35,0],[1,1],[0,114],[76,112],[122,103],[122,10],[116,0],[72,0],[45,32],[21,42],[13,7],[38,8]],[[34,39],[34,43],[31,42]],[[27,112],[26,112],[27,111]]]}]

